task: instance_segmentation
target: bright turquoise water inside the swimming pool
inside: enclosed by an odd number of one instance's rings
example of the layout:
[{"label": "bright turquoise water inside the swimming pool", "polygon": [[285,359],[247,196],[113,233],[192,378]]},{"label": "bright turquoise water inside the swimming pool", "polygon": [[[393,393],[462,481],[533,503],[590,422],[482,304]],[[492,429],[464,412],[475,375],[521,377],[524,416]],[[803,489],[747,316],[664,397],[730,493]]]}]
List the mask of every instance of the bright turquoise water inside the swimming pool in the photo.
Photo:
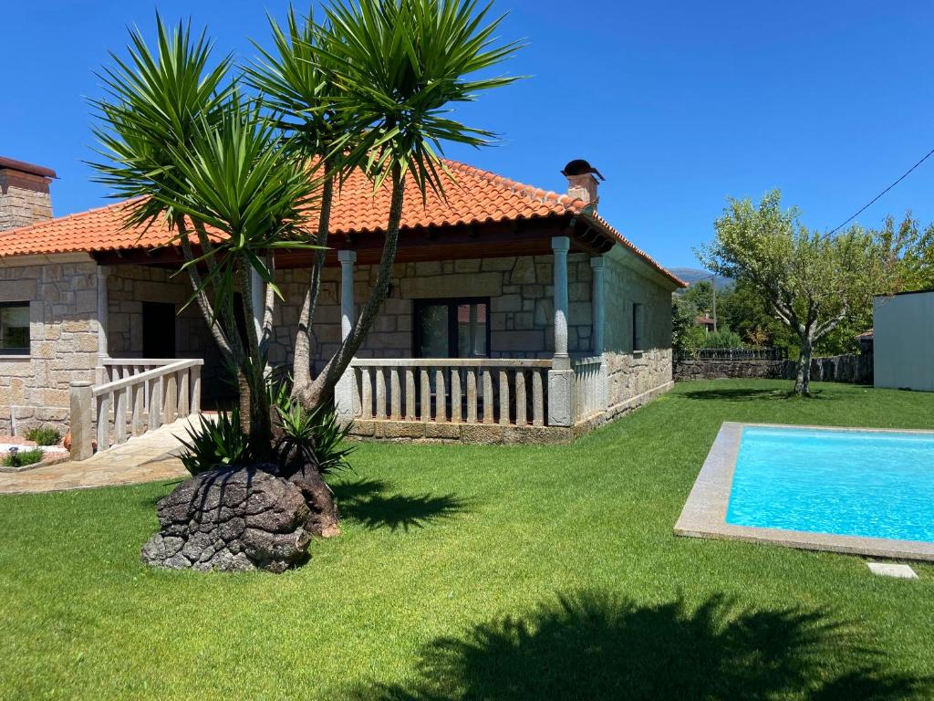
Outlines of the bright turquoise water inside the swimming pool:
[{"label": "bright turquoise water inside the swimming pool", "polygon": [[727,522],[934,542],[934,436],[746,426]]}]

